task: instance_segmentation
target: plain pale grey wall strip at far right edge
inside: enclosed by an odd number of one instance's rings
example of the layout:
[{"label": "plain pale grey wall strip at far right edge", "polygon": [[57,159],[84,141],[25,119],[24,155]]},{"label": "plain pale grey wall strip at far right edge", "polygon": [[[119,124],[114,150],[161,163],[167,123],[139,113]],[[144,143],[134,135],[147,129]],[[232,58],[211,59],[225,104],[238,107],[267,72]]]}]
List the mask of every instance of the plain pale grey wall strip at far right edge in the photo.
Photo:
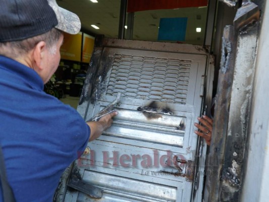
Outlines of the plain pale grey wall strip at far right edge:
[{"label": "plain pale grey wall strip at far right edge", "polygon": [[258,39],[247,145],[248,161],[241,201],[268,201],[269,198],[269,3],[260,8],[264,10]]}]

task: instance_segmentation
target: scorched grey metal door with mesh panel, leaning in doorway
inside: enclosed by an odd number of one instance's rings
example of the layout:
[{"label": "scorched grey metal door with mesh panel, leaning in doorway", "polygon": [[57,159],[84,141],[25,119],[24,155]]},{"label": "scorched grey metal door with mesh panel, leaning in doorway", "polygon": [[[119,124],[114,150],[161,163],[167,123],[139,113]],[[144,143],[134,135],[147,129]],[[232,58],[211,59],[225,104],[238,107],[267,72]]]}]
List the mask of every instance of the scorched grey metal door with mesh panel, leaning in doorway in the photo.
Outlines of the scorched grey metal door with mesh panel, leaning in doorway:
[{"label": "scorched grey metal door with mesh panel, leaning in doorway", "polygon": [[95,85],[84,84],[78,111],[87,120],[118,92],[121,104],[112,127],[88,143],[76,166],[83,181],[104,192],[94,199],[68,189],[65,201],[190,201],[193,123],[201,113],[208,56],[109,45],[94,52],[97,73],[89,71],[88,78]]}]

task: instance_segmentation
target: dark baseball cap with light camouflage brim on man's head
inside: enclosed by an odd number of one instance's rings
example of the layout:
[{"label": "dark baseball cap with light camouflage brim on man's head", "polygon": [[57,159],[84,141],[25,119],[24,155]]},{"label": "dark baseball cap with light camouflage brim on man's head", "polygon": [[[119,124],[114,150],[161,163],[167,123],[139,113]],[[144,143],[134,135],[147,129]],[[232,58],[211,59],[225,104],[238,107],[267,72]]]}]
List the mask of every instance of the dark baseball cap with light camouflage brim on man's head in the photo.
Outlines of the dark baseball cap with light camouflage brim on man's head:
[{"label": "dark baseball cap with light camouflage brim on man's head", "polygon": [[59,7],[56,0],[1,0],[0,42],[18,41],[48,32],[53,27],[77,34],[78,16]]}]

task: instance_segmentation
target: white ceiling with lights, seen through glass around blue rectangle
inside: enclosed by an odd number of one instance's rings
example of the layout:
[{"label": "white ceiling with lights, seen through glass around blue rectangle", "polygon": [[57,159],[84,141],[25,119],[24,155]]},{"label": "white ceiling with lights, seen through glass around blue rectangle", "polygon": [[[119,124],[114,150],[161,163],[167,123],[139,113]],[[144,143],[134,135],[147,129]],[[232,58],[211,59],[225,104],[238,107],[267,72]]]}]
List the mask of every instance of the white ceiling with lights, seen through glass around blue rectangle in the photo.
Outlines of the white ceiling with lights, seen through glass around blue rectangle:
[{"label": "white ceiling with lights, seen through glass around blue rectangle", "polygon": [[[76,13],[82,24],[82,31],[89,34],[104,34],[106,37],[118,38],[120,0],[58,0],[59,6]],[[180,8],[172,10],[150,10],[136,12],[134,18],[133,39],[157,40],[160,18],[187,17],[185,43],[203,44],[205,34],[207,7]],[[96,30],[90,25],[95,24]],[[196,27],[201,27],[200,33]]]}]

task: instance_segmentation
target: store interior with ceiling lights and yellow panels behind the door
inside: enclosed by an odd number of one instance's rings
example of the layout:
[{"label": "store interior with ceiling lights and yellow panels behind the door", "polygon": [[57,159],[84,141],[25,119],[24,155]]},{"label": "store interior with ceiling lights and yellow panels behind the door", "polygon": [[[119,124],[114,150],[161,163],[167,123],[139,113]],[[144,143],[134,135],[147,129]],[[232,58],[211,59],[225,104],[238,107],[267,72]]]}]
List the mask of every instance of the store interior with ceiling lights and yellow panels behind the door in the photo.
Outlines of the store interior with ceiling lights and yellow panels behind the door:
[{"label": "store interior with ceiling lights and yellow panels behind the door", "polygon": [[191,4],[181,5],[171,5],[175,1],[163,5],[156,5],[155,1],[147,2],[58,0],[59,6],[79,16],[82,27],[75,36],[65,35],[59,68],[45,85],[45,91],[77,108],[97,34],[145,41],[206,43],[210,1],[192,1]]}]

